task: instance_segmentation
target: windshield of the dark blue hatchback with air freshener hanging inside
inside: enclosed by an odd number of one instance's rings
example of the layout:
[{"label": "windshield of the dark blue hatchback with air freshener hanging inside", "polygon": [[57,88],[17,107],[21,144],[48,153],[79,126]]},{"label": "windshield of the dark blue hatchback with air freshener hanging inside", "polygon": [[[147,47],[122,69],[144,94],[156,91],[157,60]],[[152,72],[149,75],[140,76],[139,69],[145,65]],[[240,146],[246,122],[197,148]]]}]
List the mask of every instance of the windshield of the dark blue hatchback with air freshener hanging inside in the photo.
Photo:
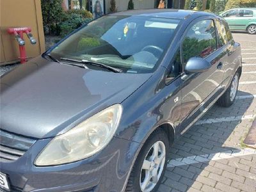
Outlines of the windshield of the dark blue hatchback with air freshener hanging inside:
[{"label": "windshield of the dark blue hatchback with air freshener hanging inside", "polygon": [[179,21],[137,15],[100,17],[69,36],[50,54],[60,61],[86,60],[120,68],[122,72],[149,73],[170,44]]}]

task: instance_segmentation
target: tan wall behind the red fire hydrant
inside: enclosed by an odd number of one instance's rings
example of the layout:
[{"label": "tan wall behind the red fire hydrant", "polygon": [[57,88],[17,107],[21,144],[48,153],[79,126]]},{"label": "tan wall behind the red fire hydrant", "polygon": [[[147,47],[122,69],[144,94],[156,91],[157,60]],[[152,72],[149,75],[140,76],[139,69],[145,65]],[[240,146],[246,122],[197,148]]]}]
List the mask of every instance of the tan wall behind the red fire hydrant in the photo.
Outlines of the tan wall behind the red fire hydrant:
[{"label": "tan wall behind the red fire hydrant", "polygon": [[0,65],[19,61],[19,45],[14,35],[7,33],[8,28],[28,26],[36,39],[31,45],[24,34],[28,58],[45,51],[44,29],[40,0],[1,0],[0,1]]}]

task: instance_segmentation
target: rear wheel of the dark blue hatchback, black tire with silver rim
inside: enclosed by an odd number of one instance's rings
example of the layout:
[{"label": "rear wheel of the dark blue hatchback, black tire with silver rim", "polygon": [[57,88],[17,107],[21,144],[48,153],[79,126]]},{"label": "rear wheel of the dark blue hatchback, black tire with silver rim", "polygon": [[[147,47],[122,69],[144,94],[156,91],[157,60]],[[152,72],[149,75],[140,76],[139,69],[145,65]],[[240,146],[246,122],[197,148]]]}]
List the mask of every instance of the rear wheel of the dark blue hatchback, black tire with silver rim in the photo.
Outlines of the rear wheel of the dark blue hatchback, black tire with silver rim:
[{"label": "rear wheel of the dark blue hatchback, black tire with silver rim", "polygon": [[220,99],[218,99],[217,104],[221,107],[228,108],[231,106],[236,100],[237,88],[239,84],[239,73],[236,72],[234,75],[228,89],[223,95],[221,95]]}]

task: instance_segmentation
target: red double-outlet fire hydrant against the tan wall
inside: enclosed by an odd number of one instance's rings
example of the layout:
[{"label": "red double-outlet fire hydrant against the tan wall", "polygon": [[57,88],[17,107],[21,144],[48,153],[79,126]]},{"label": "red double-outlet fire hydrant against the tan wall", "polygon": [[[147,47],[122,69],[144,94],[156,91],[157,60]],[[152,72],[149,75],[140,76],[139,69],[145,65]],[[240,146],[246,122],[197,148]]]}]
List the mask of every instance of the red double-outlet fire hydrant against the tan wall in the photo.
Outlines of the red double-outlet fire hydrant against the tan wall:
[{"label": "red double-outlet fire hydrant against the tan wall", "polygon": [[25,41],[23,38],[23,33],[26,33],[31,44],[35,45],[36,40],[33,35],[30,33],[31,28],[8,28],[8,33],[15,35],[15,39],[19,43],[20,50],[20,63],[25,63],[27,61],[26,50],[25,50]]}]

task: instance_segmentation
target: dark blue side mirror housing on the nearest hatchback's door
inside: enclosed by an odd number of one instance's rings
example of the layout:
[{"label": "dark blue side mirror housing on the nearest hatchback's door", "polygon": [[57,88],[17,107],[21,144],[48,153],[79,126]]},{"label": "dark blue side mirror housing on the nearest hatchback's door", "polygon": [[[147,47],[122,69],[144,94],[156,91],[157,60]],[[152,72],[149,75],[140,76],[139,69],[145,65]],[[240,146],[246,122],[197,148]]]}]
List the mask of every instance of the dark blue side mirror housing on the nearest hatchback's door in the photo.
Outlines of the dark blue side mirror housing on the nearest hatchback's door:
[{"label": "dark blue side mirror housing on the nearest hatchback's door", "polygon": [[199,73],[208,70],[211,67],[211,63],[203,58],[190,58],[184,68],[185,74]]}]

